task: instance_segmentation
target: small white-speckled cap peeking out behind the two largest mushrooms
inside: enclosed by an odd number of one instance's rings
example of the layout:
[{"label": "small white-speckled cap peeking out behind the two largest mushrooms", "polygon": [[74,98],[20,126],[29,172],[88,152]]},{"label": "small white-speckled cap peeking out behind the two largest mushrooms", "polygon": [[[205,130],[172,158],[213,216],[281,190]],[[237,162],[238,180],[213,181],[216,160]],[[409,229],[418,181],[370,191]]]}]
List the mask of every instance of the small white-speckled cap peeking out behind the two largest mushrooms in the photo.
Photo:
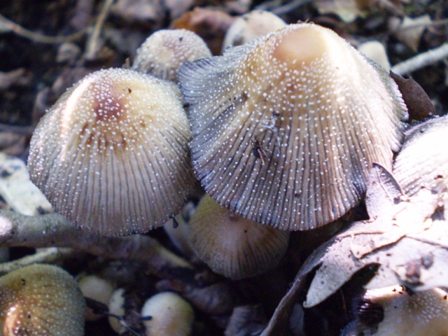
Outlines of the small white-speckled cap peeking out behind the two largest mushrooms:
[{"label": "small white-speckled cap peeking out behind the two largest mushrooms", "polygon": [[132,69],[176,81],[183,62],[210,56],[207,44],[193,31],[162,29],[151,34],[139,47]]}]

